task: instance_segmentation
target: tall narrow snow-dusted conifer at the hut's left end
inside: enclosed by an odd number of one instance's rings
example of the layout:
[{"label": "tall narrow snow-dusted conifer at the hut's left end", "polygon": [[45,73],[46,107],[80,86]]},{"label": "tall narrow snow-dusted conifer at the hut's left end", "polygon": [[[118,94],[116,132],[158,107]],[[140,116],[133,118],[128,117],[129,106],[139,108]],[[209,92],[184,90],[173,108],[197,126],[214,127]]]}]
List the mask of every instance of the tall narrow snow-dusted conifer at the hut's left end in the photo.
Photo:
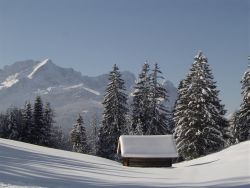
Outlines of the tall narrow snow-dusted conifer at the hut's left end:
[{"label": "tall narrow snow-dusted conifer at the hut's left end", "polygon": [[126,134],[127,94],[124,80],[115,64],[109,73],[109,83],[104,95],[102,127],[99,132],[97,155],[116,158],[116,147],[120,135]]}]

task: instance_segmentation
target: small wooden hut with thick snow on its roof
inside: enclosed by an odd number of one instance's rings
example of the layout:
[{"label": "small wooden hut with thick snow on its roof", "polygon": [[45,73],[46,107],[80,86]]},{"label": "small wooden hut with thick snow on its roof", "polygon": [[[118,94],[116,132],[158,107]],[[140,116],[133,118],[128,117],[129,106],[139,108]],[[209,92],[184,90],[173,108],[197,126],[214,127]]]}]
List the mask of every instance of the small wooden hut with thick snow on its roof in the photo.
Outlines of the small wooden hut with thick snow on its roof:
[{"label": "small wooden hut with thick snow on its roof", "polygon": [[171,167],[178,157],[172,135],[123,135],[117,153],[124,166],[133,167]]}]

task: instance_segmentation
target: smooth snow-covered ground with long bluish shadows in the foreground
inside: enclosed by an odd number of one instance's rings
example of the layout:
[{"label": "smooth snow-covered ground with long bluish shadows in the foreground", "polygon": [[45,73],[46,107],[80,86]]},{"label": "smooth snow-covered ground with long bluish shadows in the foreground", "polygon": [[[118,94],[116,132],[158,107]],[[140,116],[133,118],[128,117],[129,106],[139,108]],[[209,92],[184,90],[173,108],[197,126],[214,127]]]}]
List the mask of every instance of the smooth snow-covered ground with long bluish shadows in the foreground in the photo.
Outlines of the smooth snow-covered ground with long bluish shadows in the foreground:
[{"label": "smooth snow-covered ground with long bluish shadows in the foreground", "polygon": [[250,187],[250,141],[173,168],[123,167],[0,139],[0,187]]}]

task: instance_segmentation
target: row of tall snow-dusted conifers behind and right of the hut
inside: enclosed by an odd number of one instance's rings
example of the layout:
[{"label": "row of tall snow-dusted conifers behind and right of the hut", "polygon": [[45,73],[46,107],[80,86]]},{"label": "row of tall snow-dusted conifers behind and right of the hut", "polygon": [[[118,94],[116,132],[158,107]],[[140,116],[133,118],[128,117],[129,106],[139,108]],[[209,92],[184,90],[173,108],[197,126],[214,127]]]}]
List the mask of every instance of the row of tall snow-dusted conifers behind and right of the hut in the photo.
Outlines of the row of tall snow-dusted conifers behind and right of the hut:
[{"label": "row of tall snow-dusted conifers behind and right of the hut", "polygon": [[130,106],[121,77],[119,68],[114,65],[103,101],[98,156],[117,159],[116,147],[122,134],[173,134],[180,160],[194,159],[250,139],[249,70],[241,81],[243,102],[230,121],[225,118],[225,107],[219,99],[208,59],[202,52],[194,57],[186,78],[178,86],[173,112],[164,105],[168,91],[160,82],[163,77],[158,64],[152,70],[148,63],[143,65]]}]

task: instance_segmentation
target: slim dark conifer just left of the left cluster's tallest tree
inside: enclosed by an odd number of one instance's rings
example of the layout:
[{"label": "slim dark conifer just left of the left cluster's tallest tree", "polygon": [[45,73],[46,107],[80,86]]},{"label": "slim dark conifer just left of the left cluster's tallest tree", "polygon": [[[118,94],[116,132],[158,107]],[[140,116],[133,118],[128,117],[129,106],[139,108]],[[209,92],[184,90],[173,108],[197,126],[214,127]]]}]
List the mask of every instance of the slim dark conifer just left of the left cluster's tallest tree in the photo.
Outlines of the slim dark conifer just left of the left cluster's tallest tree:
[{"label": "slim dark conifer just left of the left cluster's tallest tree", "polygon": [[31,141],[31,130],[34,128],[33,125],[33,112],[30,102],[26,102],[23,109],[23,128],[22,128],[22,138],[23,142]]}]

